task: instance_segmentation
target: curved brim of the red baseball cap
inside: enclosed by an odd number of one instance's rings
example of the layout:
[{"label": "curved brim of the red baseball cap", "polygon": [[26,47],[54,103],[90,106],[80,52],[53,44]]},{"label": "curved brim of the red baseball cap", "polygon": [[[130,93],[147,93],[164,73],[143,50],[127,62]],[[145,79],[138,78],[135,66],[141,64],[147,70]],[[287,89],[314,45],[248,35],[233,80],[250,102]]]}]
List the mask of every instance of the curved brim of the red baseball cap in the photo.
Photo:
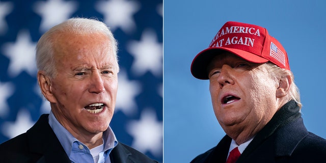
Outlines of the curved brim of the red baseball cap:
[{"label": "curved brim of the red baseball cap", "polygon": [[225,47],[210,47],[198,53],[198,55],[194,58],[193,63],[191,65],[191,72],[194,77],[198,79],[208,79],[207,66],[212,61],[212,59],[220,55],[221,53],[229,51],[234,53],[235,55],[253,63],[266,63],[267,59],[259,57],[251,52],[233,49],[233,48],[225,48]]}]

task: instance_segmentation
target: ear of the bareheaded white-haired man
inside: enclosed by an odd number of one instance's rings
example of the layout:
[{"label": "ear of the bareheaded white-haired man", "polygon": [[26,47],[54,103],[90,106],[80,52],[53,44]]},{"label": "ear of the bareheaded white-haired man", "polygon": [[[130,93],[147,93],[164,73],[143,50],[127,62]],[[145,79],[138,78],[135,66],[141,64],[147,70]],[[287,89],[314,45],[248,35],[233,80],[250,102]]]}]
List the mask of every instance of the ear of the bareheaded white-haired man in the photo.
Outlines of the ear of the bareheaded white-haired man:
[{"label": "ear of the bareheaded white-haired man", "polygon": [[43,96],[51,103],[56,103],[57,99],[53,95],[51,79],[45,74],[44,71],[37,72],[37,80],[41,89]]}]

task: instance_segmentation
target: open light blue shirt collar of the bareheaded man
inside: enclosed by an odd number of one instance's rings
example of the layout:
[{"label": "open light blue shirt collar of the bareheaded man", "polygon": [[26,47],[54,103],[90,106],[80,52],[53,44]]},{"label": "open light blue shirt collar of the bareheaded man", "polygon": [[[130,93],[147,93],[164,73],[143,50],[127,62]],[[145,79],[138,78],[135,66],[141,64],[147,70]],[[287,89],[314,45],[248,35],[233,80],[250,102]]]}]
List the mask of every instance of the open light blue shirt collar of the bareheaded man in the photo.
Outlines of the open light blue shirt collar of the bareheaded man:
[{"label": "open light blue shirt collar of the bareheaded man", "polygon": [[[51,126],[53,132],[55,132],[55,134],[57,135],[57,138],[59,139],[62,147],[69,156],[71,153],[73,142],[78,140],[74,138],[73,135],[59,123],[55,115],[53,115],[52,111],[49,114],[49,125]],[[110,126],[108,126],[108,128],[103,132],[103,141],[104,151],[109,150],[109,153],[118,144],[116,135],[114,134]]]}]

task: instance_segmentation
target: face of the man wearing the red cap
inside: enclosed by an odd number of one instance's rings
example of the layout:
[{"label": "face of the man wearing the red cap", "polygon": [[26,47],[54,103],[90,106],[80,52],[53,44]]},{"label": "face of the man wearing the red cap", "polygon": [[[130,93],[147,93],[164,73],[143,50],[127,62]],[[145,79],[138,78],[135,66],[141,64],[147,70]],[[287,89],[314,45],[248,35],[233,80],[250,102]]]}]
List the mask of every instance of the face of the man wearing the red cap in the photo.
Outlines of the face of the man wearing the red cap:
[{"label": "face of the man wearing the red cap", "polygon": [[208,75],[215,116],[237,143],[255,135],[277,112],[277,84],[262,64],[225,53],[213,59]]}]

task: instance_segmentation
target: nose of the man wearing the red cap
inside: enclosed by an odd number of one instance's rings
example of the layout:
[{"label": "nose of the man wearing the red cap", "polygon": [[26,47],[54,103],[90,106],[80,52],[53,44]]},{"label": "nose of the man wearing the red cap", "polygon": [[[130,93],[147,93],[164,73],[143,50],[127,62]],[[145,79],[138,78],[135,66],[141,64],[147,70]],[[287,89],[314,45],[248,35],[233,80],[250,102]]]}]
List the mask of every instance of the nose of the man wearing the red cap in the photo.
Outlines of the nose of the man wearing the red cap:
[{"label": "nose of the man wearing the red cap", "polygon": [[220,88],[223,88],[225,85],[233,85],[234,84],[234,80],[232,77],[232,67],[229,65],[223,65],[220,75],[218,77],[218,82],[220,85]]}]

